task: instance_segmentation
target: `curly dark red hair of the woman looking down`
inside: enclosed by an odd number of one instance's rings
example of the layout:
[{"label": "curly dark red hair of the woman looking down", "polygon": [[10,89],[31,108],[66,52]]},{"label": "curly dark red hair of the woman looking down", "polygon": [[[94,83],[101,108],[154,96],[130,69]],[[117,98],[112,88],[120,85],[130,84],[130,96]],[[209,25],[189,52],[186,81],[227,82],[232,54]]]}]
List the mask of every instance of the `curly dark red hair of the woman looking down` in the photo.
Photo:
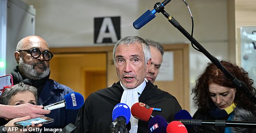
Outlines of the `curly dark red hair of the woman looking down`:
[{"label": "curly dark red hair of the woman looking down", "polygon": [[[248,90],[255,94],[255,88],[253,87],[253,80],[248,77],[248,72],[246,72],[242,67],[232,64],[227,61],[220,61],[220,63],[239,81],[244,82],[248,87]],[[239,90],[231,80],[225,77],[223,72],[219,70],[217,66],[213,63],[208,63],[208,66],[204,72],[197,78],[196,85],[192,89],[192,94],[195,94],[193,100],[198,108],[210,109],[210,105],[213,105],[210,93],[209,84],[216,83],[219,86],[225,86],[229,88],[236,88],[234,102],[237,106],[243,108],[251,108],[254,104],[249,100],[249,98],[244,94],[242,90]]]}]

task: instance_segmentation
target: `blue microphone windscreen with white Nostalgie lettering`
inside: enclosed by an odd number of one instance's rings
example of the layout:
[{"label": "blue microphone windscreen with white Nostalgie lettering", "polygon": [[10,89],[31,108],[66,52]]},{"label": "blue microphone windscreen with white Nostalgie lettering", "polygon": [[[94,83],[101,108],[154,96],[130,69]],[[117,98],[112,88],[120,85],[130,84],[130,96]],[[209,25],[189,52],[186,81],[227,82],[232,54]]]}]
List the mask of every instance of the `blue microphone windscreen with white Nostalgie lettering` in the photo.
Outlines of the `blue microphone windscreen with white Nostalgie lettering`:
[{"label": "blue microphone windscreen with white Nostalgie lettering", "polygon": [[66,102],[66,110],[76,110],[83,106],[83,95],[78,92],[72,92],[64,96]]}]

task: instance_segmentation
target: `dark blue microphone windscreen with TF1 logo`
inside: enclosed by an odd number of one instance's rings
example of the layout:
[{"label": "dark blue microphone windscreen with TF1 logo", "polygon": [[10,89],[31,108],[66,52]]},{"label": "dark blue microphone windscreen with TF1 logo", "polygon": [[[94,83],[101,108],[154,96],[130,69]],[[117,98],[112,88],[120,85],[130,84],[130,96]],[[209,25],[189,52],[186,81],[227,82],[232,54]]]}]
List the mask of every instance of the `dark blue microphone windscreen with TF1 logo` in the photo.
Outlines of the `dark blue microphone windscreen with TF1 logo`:
[{"label": "dark blue microphone windscreen with TF1 logo", "polygon": [[167,125],[164,117],[156,115],[149,120],[149,131],[150,133],[165,133]]}]

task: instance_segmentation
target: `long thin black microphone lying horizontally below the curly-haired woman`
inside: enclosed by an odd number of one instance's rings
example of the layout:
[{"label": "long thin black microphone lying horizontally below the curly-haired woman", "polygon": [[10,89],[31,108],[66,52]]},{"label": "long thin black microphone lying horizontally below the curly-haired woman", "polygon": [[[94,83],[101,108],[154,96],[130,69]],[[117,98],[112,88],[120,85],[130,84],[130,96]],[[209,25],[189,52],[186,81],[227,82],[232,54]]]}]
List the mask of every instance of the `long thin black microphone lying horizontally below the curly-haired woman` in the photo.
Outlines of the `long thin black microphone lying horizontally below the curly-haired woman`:
[{"label": "long thin black microphone lying horizontally below the curly-haired woman", "polygon": [[244,127],[255,128],[256,121],[226,121],[226,120],[178,120],[184,125],[202,125],[202,126],[218,126],[218,127]]}]

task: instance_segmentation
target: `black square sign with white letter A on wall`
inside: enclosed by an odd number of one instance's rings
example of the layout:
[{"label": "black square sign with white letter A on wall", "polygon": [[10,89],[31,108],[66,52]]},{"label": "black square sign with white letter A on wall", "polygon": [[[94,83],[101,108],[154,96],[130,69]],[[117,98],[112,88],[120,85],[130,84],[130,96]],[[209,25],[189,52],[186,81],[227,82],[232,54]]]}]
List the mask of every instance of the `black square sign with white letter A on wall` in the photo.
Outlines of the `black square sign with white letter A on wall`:
[{"label": "black square sign with white letter A on wall", "polygon": [[120,17],[94,18],[94,43],[116,43],[120,36]]}]

